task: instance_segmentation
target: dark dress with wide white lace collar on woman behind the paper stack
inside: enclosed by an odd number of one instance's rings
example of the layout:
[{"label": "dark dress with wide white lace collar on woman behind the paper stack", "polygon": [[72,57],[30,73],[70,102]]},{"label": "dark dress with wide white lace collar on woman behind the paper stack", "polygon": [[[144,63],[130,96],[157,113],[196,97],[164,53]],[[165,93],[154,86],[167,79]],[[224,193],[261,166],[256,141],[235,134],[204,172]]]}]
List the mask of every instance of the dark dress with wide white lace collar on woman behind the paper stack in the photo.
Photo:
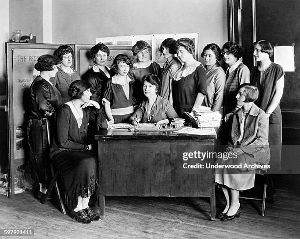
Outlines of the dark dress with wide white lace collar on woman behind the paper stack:
[{"label": "dark dress with wide white lace collar on woman behind the paper stack", "polygon": [[202,64],[197,61],[194,65],[175,74],[173,83],[173,106],[179,117],[187,118],[184,111],[191,112],[198,93],[207,95],[206,73]]}]

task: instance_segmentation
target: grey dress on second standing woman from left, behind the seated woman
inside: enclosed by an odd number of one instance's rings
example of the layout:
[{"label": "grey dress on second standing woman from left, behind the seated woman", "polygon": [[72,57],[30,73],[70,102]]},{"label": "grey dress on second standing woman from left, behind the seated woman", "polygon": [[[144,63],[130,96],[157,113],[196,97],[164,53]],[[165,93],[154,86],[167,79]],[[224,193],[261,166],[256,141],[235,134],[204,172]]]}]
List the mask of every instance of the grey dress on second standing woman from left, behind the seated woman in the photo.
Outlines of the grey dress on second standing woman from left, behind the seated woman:
[{"label": "grey dress on second standing woman from left, behind the seated woman", "polygon": [[[58,72],[55,75],[55,78],[52,78],[50,81],[56,86],[59,90],[63,103],[70,101],[70,96],[68,90],[70,84],[75,80],[81,80],[80,75],[73,69],[73,74],[68,74],[63,71],[61,67],[58,67]],[[53,81],[52,81],[53,80]]]}]

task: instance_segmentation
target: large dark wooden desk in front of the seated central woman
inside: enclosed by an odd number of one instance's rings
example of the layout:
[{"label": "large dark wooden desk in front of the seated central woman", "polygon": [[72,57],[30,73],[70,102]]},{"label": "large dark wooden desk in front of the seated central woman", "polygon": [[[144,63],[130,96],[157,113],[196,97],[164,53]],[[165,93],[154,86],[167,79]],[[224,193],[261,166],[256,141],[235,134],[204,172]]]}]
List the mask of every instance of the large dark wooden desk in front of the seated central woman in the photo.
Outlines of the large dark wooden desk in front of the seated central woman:
[{"label": "large dark wooden desk in front of the seated central woman", "polygon": [[[215,219],[215,170],[183,169],[183,152],[213,151],[216,135],[103,130],[98,140],[100,216],[105,196],[210,197]],[[194,161],[193,161],[194,160]],[[202,161],[204,162],[204,161]]]}]

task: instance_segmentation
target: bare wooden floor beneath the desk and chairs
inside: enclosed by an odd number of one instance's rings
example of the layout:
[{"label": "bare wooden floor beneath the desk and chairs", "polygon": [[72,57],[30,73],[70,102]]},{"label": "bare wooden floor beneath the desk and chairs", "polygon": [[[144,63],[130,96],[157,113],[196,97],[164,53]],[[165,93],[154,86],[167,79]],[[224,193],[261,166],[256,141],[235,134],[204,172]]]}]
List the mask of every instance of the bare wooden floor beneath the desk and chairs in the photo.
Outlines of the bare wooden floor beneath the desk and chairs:
[{"label": "bare wooden floor beneath the desk and chairs", "polygon": [[[217,191],[217,212],[223,200]],[[34,238],[300,238],[300,196],[289,191],[276,192],[264,217],[259,201],[241,199],[240,218],[227,222],[209,220],[208,198],[107,197],[105,219],[90,225],[63,215],[55,201],[42,205],[31,191],[13,199],[0,195],[0,205],[0,228],[31,228]]]}]

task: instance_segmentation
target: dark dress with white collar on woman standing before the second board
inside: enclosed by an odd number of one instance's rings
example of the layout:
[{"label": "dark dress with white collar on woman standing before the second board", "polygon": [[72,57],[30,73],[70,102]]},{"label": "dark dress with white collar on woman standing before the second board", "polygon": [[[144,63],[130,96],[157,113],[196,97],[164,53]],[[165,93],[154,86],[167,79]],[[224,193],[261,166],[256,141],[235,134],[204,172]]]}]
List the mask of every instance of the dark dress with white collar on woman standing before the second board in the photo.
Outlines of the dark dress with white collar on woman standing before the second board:
[{"label": "dark dress with white collar on woman standing before the second board", "polygon": [[[111,76],[109,69],[106,67],[106,70]],[[102,105],[102,98],[104,96],[105,83],[110,78],[105,75],[97,66],[93,66],[85,74],[82,75],[82,80],[86,80],[91,84],[91,100],[97,101],[100,106]]]}]

